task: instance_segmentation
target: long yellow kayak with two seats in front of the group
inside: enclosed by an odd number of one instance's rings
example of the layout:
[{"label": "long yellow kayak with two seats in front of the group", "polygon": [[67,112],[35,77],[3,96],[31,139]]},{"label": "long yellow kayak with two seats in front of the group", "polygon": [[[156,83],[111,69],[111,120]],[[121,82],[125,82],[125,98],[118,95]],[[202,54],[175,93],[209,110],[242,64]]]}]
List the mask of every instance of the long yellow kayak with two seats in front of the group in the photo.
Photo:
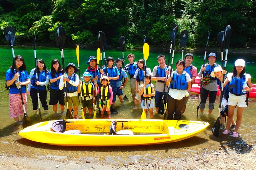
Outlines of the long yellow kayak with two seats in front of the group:
[{"label": "long yellow kayak with two seats in front of the group", "polygon": [[131,146],[185,140],[208,126],[207,122],[188,120],[67,119],[40,122],[19,135],[61,146]]}]

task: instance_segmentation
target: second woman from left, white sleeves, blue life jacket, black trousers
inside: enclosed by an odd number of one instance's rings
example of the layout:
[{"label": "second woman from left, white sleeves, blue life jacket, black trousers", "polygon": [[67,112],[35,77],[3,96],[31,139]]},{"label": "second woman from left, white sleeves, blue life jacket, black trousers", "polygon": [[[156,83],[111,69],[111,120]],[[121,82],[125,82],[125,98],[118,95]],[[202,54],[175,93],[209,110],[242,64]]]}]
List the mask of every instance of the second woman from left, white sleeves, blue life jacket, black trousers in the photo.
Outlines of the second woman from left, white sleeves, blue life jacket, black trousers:
[{"label": "second woman from left, white sleeves, blue life jacket, black trousers", "polygon": [[38,81],[36,79],[36,68],[32,69],[29,78],[31,81],[31,84],[28,85],[28,94],[31,96],[32,99],[32,105],[33,105],[33,111],[34,116],[39,116],[39,113],[37,112],[38,109],[38,99],[37,99],[37,85],[39,90],[39,98],[41,101],[42,106],[44,107],[44,116],[48,114],[48,104],[47,104],[47,89],[46,85],[49,84],[49,71],[47,70],[45,63],[42,59],[37,59],[37,77]]}]

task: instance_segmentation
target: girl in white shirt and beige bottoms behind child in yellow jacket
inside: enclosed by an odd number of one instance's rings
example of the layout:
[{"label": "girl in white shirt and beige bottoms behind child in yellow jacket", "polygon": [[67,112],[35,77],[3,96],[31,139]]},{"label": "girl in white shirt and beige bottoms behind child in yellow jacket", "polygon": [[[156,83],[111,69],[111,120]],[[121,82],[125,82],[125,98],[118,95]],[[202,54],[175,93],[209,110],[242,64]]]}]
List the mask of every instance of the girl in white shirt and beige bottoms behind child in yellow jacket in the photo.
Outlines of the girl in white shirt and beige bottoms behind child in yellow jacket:
[{"label": "girl in white shirt and beige bottoms behind child in yellow jacket", "polygon": [[[141,102],[141,86],[144,83],[144,60],[139,59],[138,65],[137,65],[137,70],[134,73],[134,78],[136,78],[136,83],[135,83],[135,91],[136,91],[136,96],[135,96],[135,107],[133,109],[137,109],[139,102]],[[152,72],[150,68],[146,68],[146,74],[152,75]]]}]

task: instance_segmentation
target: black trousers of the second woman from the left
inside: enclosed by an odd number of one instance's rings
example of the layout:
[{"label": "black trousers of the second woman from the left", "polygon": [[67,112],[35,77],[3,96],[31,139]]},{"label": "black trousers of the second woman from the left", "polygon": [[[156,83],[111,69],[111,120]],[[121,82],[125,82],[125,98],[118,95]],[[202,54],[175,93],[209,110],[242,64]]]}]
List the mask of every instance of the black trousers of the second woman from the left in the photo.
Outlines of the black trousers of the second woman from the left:
[{"label": "black trousers of the second woman from the left", "polygon": [[[38,106],[38,99],[37,99],[37,90],[34,88],[30,89],[30,96],[32,99],[32,104],[33,104],[33,110],[37,109]],[[44,107],[44,110],[47,111],[48,108],[48,104],[47,104],[47,91],[46,90],[39,90],[39,99],[42,103],[42,107]]]}]

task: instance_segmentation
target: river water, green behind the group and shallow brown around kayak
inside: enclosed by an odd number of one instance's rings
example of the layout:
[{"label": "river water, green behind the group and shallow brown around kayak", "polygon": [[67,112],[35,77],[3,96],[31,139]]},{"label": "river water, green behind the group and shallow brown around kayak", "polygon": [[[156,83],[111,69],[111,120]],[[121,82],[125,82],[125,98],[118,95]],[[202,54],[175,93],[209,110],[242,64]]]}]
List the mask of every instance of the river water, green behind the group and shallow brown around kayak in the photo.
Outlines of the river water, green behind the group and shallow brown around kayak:
[{"label": "river water, green behind the group and shallow brown around kayak", "polygon": [[[25,62],[33,63],[33,51],[28,53],[26,50],[27,48],[18,49],[24,58]],[[50,63],[53,58],[60,58],[58,48],[54,48],[52,51],[56,51],[55,55],[52,53],[47,53],[47,50],[38,50],[37,53],[40,58],[45,60],[45,63]],[[70,50],[70,51],[69,51]],[[64,53],[68,53],[72,59],[67,59],[66,64],[68,62],[76,63],[75,57],[75,50],[66,50]],[[256,128],[256,117],[254,113],[256,111],[256,99],[251,98],[249,100],[249,106],[245,109],[243,113],[243,122],[241,127],[239,128],[240,137],[235,139],[232,135],[223,135],[222,131],[225,129],[224,126],[221,126],[220,135],[219,137],[215,137],[212,135],[212,127],[217,119],[218,116],[218,103],[215,103],[215,109],[211,115],[207,113],[201,114],[199,113],[199,117],[196,115],[197,103],[198,103],[198,95],[191,95],[185,113],[182,116],[183,120],[199,120],[199,121],[206,121],[210,123],[210,126],[202,133],[189,138],[187,140],[183,140],[176,143],[169,143],[169,144],[158,144],[158,145],[149,145],[149,146],[118,146],[118,147],[65,147],[65,146],[51,146],[48,144],[41,144],[36,143],[33,141],[26,140],[21,138],[18,135],[18,131],[22,129],[21,125],[17,125],[13,119],[9,118],[9,98],[8,98],[8,91],[4,88],[4,75],[7,68],[11,65],[11,51],[10,48],[4,48],[4,50],[0,50],[0,52],[5,51],[8,58],[1,54],[0,58],[4,64],[1,64],[1,79],[0,79],[0,151],[6,154],[13,154],[17,156],[28,156],[28,157],[54,157],[54,159],[59,158],[66,158],[68,157],[75,157],[81,158],[86,157],[86,159],[93,160],[97,158],[98,160],[105,160],[111,161],[112,163],[123,163],[123,162],[134,162],[138,159],[161,159],[166,158],[168,156],[175,157],[177,155],[184,155],[184,154],[197,154],[199,152],[203,152],[204,149],[218,149],[220,146],[225,146],[234,149],[235,151],[243,154],[246,152],[250,152],[251,147],[256,143],[255,137],[255,128]],[[48,51],[51,51],[48,49]],[[44,52],[44,54],[42,54]],[[94,51],[89,51],[89,53],[93,53]],[[126,53],[135,52],[137,56],[142,54],[141,51],[126,51]],[[10,54],[9,54],[10,53]],[[16,55],[19,54],[16,52]],[[55,53],[55,52],[54,52]],[[118,52],[120,53],[120,51]],[[127,55],[125,53],[125,55]],[[122,54],[122,53],[121,53]],[[67,56],[68,56],[67,55]],[[118,54],[119,55],[119,54]],[[118,56],[116,55],[116,56]],[[155,54],[156,55],[156,54]],[[30,56],[30,58],[28,57]],[[51,56],[51,57],[49,57]],[[81,59],[80,55],[80,63],[81,68],[86,67],[87,58]],[[89,55],[87,55],[89,56]],[[113,55],[114,56],[114,55]],[[120,55],[119,55],[120,56]],[[157,56],[157,55],[156,55]],[[156,57],[155,56],[155,57]],[[167,54],[168,56],[168,54]],[[248,56],[250,58],[251,56]],[[10,59],[9,59],[10,58]],[[39,57],[37,57],[39,58]],[[116,58],[116,57],[115,57]],[[153,68],[156,65],[157,60],[151,58],[149,59],[148,65]],[[195,60],[195,59],[194,59]],[[251,63],[253,65],[254,62]],[[200,66],[199,63],[198,67]],[[33,66],[28,65],[28,72],[32,69]],[[48,64],[49,65],[49,64]],[[196,65],[196,64],[194,64]],[[49,65],[50,66],[50,65]],[[4,68],[3,68],[4,67]],[[230,64],[232,67],[232,64]],[[253,70],[247,70],[249,74],[253,73]],[[255,69],[254,69],[255,74]],[[128,83],[129,84],[129,83]],[[117,111],[118,114],[112,114],[112,118],[124,118],[124,119],[139,119],[141,109],[133,110],[134,103],[131,102],[130,97],[130,89],[126,89],[126,95],[128,96],[129,101],[125,101],[124,103],[120,103],[117,99]],[[49,95],[48,95],[49,101]],[[216,99],[218,101],[218,98]],[[207,109],[206,109],[207,111]],[[79,115],[81,115],[81,108],[79,108]],[[39,117],[34,117],[32,112],[32,102],[31,98],[28,96],[28,116],[31,118],[33,123],[40,122]],[[43,120],[57,120],[63,119],[65,115],[62,117],[56,117],[51,111],[51,107],[49,107],[49,114],[46,117],[43,117]],[[148,115],[149,116],[149,115]],[[154,119],[163,119],[162,115],[157,114],[154,111]]]}]

